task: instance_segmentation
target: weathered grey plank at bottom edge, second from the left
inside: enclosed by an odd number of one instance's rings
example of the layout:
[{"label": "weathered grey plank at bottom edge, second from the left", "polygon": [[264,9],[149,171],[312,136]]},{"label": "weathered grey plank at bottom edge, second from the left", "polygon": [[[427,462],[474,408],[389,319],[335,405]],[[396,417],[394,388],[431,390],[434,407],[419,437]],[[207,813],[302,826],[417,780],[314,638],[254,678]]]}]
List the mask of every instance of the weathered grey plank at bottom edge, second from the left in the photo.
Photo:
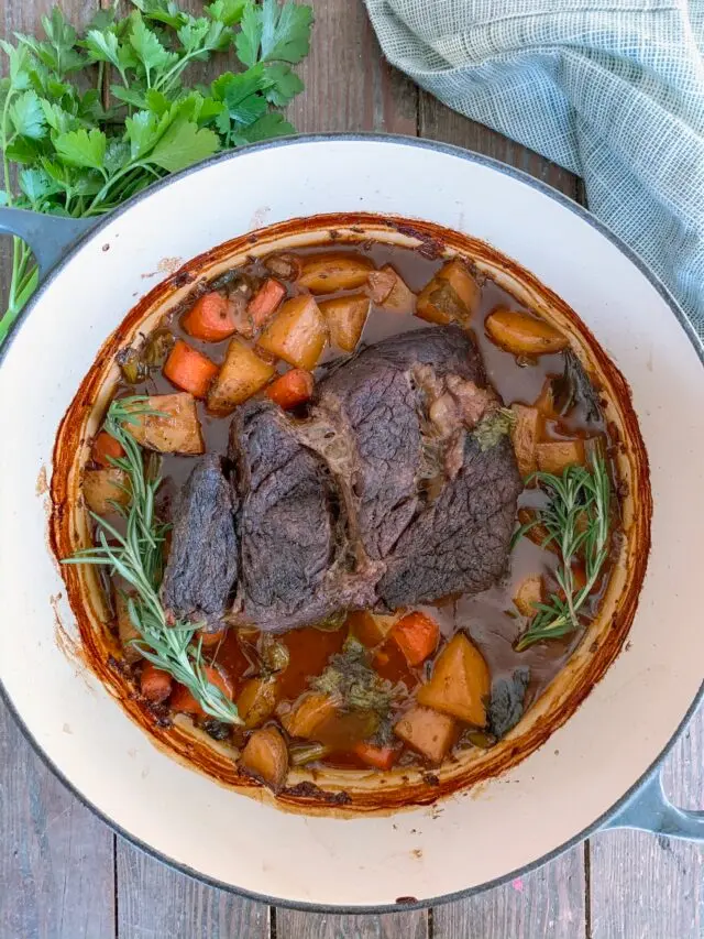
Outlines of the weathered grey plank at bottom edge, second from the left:
[{"label": "weathered grey plank at bottom edge, second from the left", "polygon": [[118,838],[117,939],[268,939],[268,908],[209,887]]}]

